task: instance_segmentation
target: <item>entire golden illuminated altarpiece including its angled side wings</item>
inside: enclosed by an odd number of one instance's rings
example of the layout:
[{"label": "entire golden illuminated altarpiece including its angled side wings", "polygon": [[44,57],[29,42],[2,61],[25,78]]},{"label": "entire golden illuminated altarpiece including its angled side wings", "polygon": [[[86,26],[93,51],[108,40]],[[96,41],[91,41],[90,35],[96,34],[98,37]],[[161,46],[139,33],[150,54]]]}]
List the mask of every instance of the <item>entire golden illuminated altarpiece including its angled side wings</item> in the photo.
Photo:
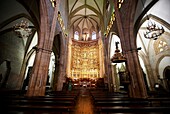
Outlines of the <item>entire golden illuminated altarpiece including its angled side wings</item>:
[{"label": "entire golden illuminated altarpiece including its angled side wings", "polygon": [[72,39],[68,46],[67,77],[72,80],[103,78],[103,46],[100,40]]}]

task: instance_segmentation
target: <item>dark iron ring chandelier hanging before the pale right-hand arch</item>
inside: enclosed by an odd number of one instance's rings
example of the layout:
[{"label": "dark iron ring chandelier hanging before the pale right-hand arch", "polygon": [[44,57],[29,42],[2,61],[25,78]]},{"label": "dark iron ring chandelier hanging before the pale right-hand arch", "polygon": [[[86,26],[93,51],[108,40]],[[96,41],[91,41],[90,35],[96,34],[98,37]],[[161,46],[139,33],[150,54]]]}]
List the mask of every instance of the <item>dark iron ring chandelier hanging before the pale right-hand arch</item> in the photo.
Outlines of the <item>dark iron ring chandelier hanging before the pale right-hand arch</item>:
[{"label": "dark iron ring chandelier hanging before the pale right-hand arch", "polygon": [[147,39],[158,39],[159,36],[161,36],[165,30],[161,26],[156,25],[155,23],[151,22],[151,20],[148,19],[148,25],[147,25],[147,31],[144,33],[144,37]]}]

